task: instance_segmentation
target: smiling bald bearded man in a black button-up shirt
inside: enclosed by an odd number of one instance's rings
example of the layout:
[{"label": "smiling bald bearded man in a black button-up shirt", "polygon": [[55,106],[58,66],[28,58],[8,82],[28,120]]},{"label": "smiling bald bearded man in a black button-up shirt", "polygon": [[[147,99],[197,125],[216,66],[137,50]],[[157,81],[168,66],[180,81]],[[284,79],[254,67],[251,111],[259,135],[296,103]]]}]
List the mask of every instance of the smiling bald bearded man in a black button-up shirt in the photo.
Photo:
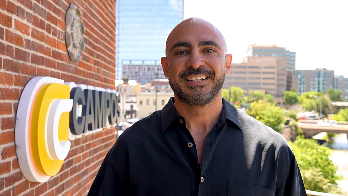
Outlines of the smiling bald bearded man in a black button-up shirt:
[{"label": "smiling bald bearded man in a black button-up shirt", "polygon": [[89,195],[306,195],[287,141],[222,99],[231,59],[212,24],[177,25],[161,58],[174,98],[121,134]]}]

